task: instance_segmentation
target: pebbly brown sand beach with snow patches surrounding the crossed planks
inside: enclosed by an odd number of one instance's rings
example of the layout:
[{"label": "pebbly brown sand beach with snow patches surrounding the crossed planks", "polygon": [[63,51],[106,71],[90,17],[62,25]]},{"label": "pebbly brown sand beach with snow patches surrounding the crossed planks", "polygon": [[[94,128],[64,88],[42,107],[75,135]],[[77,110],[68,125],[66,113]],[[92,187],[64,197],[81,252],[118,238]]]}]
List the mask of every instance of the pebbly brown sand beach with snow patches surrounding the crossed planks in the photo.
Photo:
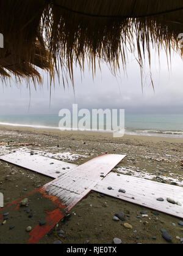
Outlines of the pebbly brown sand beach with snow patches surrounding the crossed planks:
[{"label": "pebbly brown sand beach with snow patches surrounding the crossed planks", "polygon": [[[77,165],[103,153],[126,154],[126,158],[113,171],[175,184],[183,189],[182,138],[132,135],[113,138],[112,134],[98,132],[61,132],[54,129],[1,126],[0,143],[1,155],[24,148],[27,152],[34,151],[55,159],[63,156],[66,162]],[[4,194],[4,206],[52,180],[3,161],[0,161],[0,171],[0,192]],[[121,220],[112,220],[115,213],[120,211],[126,215],[126,222],[132,229],[125,228]],[[137,218],[140,211],[146,211],[148,217]],[[110,244],[113,238],[120,238],[123,243],[168,243],[162,238],[161,228],[164,228],[173,238],[172,243],[180,244],[183,238],[183,227],[178,225],[180,220],[163,213],[156,216],[151,209],[90,192],[71,210],[70,219],[60,222],[39,243],[52,244],[61,239],[66,244],[83,244],[88,240],[94,244]],[[16,222],[13,219],[7,220],[11,225],[13,221]],[[16,225],[24,225],[26,228],[27,219],[23,218],[23,222]],[[0,228],[0,243],[21,242],[21,237],[15,238],[13,233],[9,235],[5,225]],[[56,232],[60,229],[64,231],[62,238],[58,238]]]}]

